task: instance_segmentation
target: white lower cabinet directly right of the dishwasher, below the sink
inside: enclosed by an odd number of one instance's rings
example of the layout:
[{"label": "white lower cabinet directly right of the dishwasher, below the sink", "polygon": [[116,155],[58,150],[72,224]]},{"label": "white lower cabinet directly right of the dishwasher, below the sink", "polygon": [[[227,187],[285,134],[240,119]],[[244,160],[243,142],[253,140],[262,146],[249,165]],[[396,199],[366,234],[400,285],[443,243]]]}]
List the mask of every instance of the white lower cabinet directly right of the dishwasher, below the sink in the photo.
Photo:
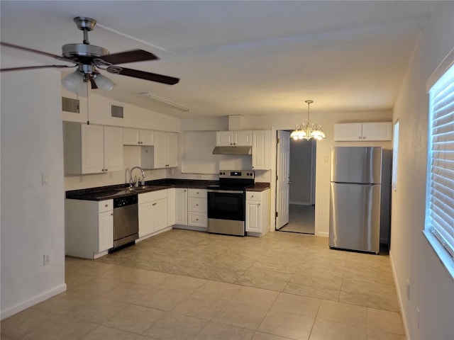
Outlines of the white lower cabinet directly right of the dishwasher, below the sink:
[{"label": "white lower cabinet directly right of the dishwasher, below the sink", "polygon": [[168,227],[167,189],[138,195],[139,238]]}]

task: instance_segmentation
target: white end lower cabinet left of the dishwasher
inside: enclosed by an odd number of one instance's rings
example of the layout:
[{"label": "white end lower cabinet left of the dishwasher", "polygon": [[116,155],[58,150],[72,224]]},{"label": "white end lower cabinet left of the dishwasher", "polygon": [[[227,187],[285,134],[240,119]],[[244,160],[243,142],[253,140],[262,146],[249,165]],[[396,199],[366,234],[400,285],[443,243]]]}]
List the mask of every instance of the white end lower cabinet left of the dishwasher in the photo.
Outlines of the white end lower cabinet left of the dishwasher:
[{"label": "white end lower cabinet left of the dishwasher", "polygon": [[65,200],[66,254],[96,259],[114,246],[114,200]]}]

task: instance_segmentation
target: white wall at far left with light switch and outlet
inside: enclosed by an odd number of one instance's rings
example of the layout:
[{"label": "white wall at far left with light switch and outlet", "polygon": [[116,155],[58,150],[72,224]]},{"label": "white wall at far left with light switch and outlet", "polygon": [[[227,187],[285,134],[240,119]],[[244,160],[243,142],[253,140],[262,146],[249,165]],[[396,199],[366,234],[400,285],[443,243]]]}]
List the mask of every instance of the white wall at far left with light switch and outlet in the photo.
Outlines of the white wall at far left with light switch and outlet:
[{"label": "white wall at far left with light switch and outlet", "polygon": [[66,290],[64,195],[60,72],[4,72],[1,319]]}]

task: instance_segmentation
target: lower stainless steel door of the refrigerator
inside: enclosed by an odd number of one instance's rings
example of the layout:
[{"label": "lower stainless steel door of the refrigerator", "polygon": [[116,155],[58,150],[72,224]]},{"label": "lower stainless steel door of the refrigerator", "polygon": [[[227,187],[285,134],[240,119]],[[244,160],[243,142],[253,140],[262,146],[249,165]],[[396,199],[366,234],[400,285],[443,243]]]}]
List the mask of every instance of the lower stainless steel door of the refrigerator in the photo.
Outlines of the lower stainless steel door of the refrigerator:
[{"label": "lower stainless steel door of the refrigerator", "polygon": [[331,182],[329,246],[380,251],[380,184]]}]

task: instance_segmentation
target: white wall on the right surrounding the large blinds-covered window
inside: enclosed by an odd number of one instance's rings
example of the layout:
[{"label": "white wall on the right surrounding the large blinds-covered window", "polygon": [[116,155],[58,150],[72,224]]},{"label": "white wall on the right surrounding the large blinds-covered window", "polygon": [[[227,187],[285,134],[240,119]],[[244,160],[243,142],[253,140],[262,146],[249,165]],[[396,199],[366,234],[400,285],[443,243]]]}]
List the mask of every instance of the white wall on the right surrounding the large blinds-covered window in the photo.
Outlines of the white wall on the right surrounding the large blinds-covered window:
[{"label": "white wall on the right surrounding the large blinds-covered window", "polygon": [[[391,258],[409,339],[454,339],[454,280],[423,237],[426,203],[426,81],[454,48],[454,2],[436,1],[394,107],[399,119]],[[402,141],[402,142],[401,142]],[[406,280],[410,298],[406,298]],[[416,309],[419,308],[419,322]]]}]

